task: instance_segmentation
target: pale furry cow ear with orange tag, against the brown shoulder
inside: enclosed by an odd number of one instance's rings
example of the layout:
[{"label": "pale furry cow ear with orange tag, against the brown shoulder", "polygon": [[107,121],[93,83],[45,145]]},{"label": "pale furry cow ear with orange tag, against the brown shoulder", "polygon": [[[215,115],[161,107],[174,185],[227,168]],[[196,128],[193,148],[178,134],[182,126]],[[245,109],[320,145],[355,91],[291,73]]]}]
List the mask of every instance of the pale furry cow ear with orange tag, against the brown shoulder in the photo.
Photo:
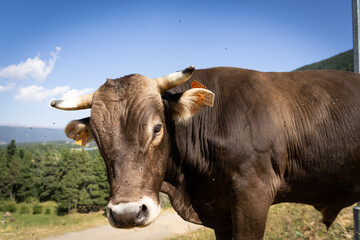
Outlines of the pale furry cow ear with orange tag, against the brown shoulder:
[{"label": "pale furry cow ear with orange tag, against the brown shoulder", "polygon": [[186,122],[205,106],[214,105],[215,94],[204,88],[193,88],[184,92],[172,105],[172,117],[179,122]]}]

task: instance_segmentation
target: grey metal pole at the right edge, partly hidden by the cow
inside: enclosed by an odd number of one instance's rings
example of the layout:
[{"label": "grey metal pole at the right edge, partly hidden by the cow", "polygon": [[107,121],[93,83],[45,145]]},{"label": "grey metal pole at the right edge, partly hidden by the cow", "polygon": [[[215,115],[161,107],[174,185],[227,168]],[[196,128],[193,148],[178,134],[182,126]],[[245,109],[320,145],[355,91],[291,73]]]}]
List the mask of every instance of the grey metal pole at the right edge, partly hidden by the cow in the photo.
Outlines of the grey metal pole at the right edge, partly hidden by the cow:
[{"label": "grey metal pole at the right edge, partly hidden by the cow", "polygon": [[[359,59],[359,0],[352,0],[353,12],[353,42],[354,42],[354,72],[359,73],[360,59]],[[360,240],[360,202],[353,208],[354,214],[354,240]]]}]

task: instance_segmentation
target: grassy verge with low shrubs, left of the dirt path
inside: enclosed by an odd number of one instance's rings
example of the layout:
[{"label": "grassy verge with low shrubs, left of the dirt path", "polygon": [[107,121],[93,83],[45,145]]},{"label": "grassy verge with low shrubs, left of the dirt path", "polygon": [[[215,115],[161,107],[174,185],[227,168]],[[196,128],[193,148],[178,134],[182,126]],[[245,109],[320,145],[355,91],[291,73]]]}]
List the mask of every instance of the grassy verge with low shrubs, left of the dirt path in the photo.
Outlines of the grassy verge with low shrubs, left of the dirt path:
[{"label": "grassy verge with low shrubs, left of the dirt path", "polygon": [[[104,211],[88,214],[72,212],[66,216],[59,216],[57,204],[53,201],[19,204],[2,201],[0,208],[1,240],[41,239],[107,223]],[[8,210],[12,210],[12,220],[10,217],[3,217],[4,212]]]}]

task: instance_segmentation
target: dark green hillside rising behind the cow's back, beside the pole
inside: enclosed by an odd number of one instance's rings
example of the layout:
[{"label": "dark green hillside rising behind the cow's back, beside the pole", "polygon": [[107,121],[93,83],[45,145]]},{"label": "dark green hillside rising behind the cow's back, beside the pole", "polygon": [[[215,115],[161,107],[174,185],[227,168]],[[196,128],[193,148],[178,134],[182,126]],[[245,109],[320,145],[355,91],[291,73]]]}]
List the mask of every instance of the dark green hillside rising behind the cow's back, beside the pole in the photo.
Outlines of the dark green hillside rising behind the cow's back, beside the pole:
[{"label": "dark green hillside rising behind the cow's back, beside the pole", "polygon": [[343,53],[340,53],[331,58],[325,59],[323,61],[309,64],[301,68],[296,69],[295,71],[305,71],[305,70],[320,70],[320,69],[333,69],[333,70],[344,70],[353,72],[354,71],[354,51],[349,50]]}]

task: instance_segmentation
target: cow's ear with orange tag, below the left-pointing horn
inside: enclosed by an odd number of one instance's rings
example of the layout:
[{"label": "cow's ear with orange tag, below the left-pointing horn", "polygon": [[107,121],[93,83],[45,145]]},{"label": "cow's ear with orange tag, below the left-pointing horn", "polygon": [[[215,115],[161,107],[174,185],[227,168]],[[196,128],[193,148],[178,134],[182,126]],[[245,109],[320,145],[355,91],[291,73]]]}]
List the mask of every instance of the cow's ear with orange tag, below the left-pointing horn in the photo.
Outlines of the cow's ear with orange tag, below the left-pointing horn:
[{"label": "cow's ear with orange tag, below the left-pointing horn", "polygon": [[68,138],[74,139],[76,144],[85,146],[86,143],[93,139],[90,130],[90,118],[83,118],[73,120],[66,125],[65,135]]}]

